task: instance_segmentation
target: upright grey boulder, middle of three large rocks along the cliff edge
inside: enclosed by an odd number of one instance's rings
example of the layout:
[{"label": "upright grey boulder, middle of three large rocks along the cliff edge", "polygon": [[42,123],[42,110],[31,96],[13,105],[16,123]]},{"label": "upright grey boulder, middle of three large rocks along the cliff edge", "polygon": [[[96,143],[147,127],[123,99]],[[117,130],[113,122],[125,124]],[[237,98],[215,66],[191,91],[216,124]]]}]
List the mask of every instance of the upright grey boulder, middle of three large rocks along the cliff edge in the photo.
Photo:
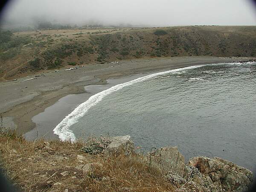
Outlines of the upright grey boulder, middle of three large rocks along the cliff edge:
[{"label": "upright grey boulder, middle of three large rocks along the cliff edge", "polygon": [[164,175],[169,172],[178,174],[180,177],[184,175],[185,159],[177,147],[157,149],[152,156],[152,162],[160,166]]}]

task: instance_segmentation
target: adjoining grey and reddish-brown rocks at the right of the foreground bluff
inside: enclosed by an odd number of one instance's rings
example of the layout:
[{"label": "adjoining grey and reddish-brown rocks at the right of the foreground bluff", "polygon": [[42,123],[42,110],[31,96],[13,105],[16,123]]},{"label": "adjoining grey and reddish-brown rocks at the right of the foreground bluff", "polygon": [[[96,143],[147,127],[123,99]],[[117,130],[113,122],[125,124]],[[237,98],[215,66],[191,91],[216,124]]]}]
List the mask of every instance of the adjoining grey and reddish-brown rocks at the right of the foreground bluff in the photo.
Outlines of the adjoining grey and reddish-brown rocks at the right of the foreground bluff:
[{"label": "adjoining grey and reddish-brown rocks at the right of the foreground bluff", "polygon": [[219,157],[193,157],[185,164],[177,147],[159,148],[149,159],[166,180],[177,185],[178,191],[242,192],[253,181],[253,172]]}]

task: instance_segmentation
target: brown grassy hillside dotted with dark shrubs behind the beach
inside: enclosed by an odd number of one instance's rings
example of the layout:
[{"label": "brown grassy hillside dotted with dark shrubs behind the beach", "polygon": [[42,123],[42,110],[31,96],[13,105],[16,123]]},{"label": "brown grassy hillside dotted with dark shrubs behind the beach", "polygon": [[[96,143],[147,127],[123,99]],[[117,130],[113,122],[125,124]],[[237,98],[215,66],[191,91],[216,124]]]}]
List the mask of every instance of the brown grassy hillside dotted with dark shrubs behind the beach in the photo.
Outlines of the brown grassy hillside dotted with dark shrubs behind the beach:
[{"label": "brown grassy hillside dotted with dark shrubs behind the beach", "polygon": [[256,56],[256,26],[66,29],[0,33],[0,77],[124,59]]}]

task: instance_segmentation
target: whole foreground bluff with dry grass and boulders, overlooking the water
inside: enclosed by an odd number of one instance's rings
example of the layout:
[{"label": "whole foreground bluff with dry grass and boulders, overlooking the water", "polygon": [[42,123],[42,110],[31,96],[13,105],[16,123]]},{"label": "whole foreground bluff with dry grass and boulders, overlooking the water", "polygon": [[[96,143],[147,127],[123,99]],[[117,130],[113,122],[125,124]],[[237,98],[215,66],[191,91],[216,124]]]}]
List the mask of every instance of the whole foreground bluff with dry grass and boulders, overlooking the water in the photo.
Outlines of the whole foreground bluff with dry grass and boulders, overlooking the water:
[{"label": "whole foreground bluff with dry grass and boulders, overlooking the water", "polygon": [[142,153],[128,135],[70,143],[1,131],[0,151],[3,174],[21,191],[244,191],[253,182],[253,172],[219,157]]}]

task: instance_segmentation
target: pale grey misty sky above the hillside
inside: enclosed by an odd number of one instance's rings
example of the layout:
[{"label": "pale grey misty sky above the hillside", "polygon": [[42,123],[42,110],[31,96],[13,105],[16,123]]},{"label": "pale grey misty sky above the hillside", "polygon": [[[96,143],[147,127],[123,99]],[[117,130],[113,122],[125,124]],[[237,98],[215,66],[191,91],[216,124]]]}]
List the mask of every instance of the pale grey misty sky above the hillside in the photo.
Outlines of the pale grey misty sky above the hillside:
[{"label": "pale grey misty sky above the hillside", "polygon": [[3,20],[33,24],[256,25],[250,0],[12,0]]}]

